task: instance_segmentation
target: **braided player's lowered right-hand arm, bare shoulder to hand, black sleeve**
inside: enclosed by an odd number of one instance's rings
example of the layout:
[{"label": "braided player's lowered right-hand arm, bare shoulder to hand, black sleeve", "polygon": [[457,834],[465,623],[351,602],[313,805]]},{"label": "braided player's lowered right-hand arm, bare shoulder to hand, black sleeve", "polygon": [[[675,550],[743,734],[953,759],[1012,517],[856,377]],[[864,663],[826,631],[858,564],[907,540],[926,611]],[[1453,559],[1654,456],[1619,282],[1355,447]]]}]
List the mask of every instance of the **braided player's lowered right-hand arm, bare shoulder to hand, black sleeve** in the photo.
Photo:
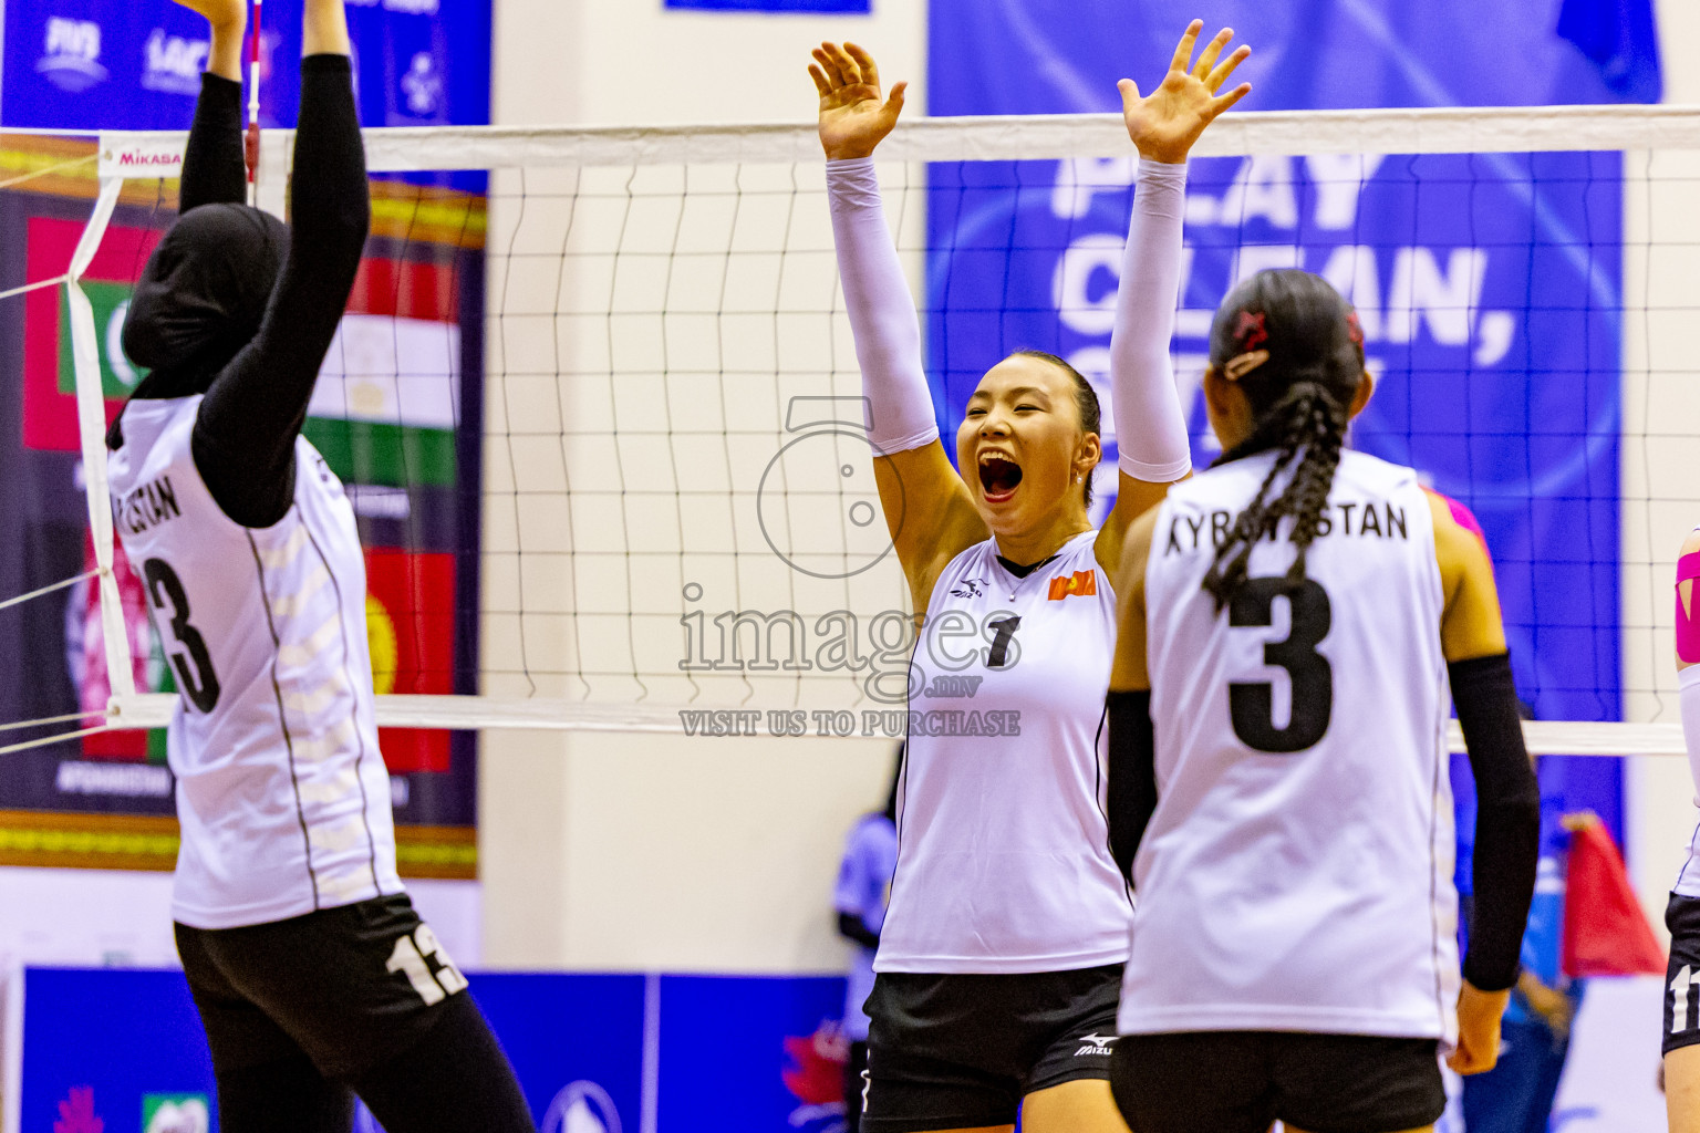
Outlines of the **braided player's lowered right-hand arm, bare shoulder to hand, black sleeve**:
[{"label": "braided player's lowered right-hand arm, bare shoulder to hand, black sleeve", "polygon": [[1459,1074],[1481,1074],[1499,1057],[1499,1016],[1516,984],[1540,851],[1540,786],[1523,747],[1499,593],[1481,528],[1442,496],[1430,496],[1430,511],[1445,593],[1440,644],[1477,797],[1476,917],[1464,956],[1459,1046],[1447,1062]]}]

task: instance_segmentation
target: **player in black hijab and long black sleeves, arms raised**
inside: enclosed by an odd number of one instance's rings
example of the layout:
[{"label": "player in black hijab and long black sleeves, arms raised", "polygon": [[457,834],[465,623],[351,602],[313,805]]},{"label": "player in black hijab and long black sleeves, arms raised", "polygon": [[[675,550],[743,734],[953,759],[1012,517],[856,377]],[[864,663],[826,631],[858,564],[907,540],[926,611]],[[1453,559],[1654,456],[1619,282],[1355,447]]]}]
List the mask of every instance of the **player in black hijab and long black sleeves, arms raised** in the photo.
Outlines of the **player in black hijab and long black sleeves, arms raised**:
[{"label": "player in black hijab and long black sleeves, arms raised", "polygon": [[518,1084],[396,877],[372,722],[366,567],[342,484],[301,437],[366,243],[342,0],[306,0],[292,223],[243,200],[245,0],[212,27],[182,216],[124,350],[112,426],[129,561],[180,690],[168,732],[177,950],[226,1133],[532,1130]]}]

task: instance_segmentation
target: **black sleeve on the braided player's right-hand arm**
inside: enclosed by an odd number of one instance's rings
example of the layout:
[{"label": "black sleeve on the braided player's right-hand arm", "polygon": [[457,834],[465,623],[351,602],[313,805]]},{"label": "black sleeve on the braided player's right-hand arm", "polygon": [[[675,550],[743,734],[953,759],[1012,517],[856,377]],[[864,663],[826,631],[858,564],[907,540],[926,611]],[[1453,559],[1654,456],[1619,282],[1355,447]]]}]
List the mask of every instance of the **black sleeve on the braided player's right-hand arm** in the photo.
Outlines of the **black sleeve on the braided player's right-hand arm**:
[{"label": "black sleeve on the braided player's right-hand arm", "polygon": [[1506,654],[1447,666],[1476,776],[1476,914],[1464,978],[1484,992],[1516,984],[1540,856],[1540,786],[1523,747]]}]

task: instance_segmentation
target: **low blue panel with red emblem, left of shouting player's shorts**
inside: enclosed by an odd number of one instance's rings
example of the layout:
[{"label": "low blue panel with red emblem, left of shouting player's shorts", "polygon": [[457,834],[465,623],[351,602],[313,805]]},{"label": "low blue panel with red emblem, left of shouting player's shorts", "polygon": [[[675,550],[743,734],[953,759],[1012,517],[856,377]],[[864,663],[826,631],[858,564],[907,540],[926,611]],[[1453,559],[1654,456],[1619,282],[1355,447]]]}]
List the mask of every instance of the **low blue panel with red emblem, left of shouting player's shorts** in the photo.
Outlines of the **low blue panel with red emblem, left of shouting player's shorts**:
[{"label": "low blue panel with red emblem, left of shouting player's shorts", "polygon": [[661,977],[663,1133],[842,1128],[838,977]]}]

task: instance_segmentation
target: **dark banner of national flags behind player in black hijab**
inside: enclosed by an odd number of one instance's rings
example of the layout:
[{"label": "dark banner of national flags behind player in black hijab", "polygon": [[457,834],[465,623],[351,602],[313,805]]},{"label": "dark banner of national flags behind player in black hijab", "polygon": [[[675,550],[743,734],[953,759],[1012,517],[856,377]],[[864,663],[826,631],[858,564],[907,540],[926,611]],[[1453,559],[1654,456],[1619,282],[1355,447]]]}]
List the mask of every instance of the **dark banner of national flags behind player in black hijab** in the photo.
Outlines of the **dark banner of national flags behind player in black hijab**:
[{"label": "dark banner of national flags behind player in black hijab", "polygon": [[[66,270],[87,223],[85,200],[0,192],[3,284]],[[83,277],[95,313],[107,418],[144,375],[121,348],[131,282],[170,221],[168,212],[121,206]],[[369,632],[382,691],[461,693],[476,679],[478,428],[481,369],[462,343],[461,316],[479,318],[481,255],[430,241],[369,243],[348,314],[326,358],[304,435],[343,479],[369,549]],[[63,287],[0,302],[0,348],[12,358],[0,382],[0,598],[94,569],[82,445],[76,426],[70,319]],[[469,375],[469,377],[468,377]],[[462,469],[471,482],[462,482]],[[173,691],[151,629],[146,595],[116,549],[133,678],[139,691]],[[461,615],[457,617],[457,610]],[[0,664],[17,679],[0,686],[0,722],[104,710],[110,681],[88,583],[0,610]],[[8,734],[34,739],[75,722]],[[34,865],[170,868],[175,824],[146,854],[110,849],[131,836],[119,815],[173,814],[173,785],[160,732],[112,732],[14,753],[0,781],[0,812],[39,812],[39,822],[0,834],[0,858]],[[468,736],[384,729],[401,868],[411,877],[476,877],[476,744]],[[100,775],[112,763],[112,775]],[[150,766],[151,764],[151,766]],[[156,775],[129,775],[131,768]],[[90,815],[90,817],[78,817]],[[97,819],[94,815],[112,815]],[[90,848],[100,822],[102,846]],[[56,824],[56,827],[54,827]],[[128,846],[129,843],[122,843]]]}]

